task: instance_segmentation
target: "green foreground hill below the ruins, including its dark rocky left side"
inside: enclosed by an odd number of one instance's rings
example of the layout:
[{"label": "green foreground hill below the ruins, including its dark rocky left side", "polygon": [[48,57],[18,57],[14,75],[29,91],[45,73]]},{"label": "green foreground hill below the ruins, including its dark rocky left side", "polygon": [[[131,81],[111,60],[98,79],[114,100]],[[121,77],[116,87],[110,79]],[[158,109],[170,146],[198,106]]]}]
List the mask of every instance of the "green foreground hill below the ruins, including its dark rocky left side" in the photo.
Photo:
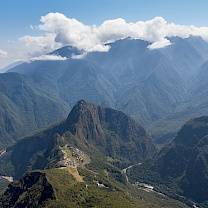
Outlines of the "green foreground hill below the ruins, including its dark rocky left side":
[{"label": "green foreground hill below the ruins, including its dark rocky left side", "polygon": [[[84,182],[77,182],[64,169],[27,173],[20,182],[9,186],[1,198],[1,207],[186,207],[167,197],[124,186],[104,174],[95,174],[85,168],[80,172]],[[97,182],[104,182],[105,187],[98,187]]]}]

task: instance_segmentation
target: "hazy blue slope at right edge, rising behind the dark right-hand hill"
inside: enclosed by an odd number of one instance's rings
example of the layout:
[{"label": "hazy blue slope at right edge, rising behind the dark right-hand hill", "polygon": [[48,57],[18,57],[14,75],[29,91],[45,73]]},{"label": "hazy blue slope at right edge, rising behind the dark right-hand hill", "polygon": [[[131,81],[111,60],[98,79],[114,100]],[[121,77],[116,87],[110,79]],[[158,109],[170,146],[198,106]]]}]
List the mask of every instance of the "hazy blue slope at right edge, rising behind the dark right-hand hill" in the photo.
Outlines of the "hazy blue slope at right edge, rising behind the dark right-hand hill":
[{"label": "hazy blue slope at right edge, rising behind the dark right-hand hill", "polygon": [[151,135],[159,142],[175,136],[176,130],[190,118],[208,115],[208,62],[197,68],[181,105],[167,117],[149,126]]}]

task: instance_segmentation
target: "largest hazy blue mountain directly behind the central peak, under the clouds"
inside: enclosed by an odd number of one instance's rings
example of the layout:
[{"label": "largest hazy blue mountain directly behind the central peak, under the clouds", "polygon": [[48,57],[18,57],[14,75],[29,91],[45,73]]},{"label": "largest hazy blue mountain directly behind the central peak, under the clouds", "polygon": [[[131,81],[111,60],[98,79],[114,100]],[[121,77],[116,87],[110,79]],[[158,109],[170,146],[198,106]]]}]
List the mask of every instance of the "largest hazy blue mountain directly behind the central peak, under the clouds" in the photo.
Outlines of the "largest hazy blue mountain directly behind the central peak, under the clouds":
[{"label": "largest hazy blue mountain directly behind the central peak, under the clouds", "polygon": [[[12,71],[26,73],[42,86],[52,84],[70,106],[83,98],[149,124],[179,105],[186,83],[172,62],[148,45],[124,39],[110,44],[109,52],[90,53],[84,60],[34,61]],[[53,53],[70,57],[79,52],[64,47]]]}]

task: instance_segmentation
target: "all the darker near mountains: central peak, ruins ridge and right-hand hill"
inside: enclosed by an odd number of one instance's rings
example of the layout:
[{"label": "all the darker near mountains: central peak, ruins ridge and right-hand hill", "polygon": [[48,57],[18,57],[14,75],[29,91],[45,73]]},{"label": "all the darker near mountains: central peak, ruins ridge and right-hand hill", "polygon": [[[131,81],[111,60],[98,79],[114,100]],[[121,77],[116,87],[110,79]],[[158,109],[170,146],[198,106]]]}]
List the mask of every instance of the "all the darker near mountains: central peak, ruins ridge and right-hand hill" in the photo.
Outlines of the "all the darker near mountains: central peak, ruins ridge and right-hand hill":
[{"label": "all the darker near mountains: central peak, ruins ridge and right-hand hill", "polygon": [[80,100],[0,156],[0,175],[19,180],[0,205],[207,207],[207,138],[208,117],[194,118],[158,153],[131,117]]}]

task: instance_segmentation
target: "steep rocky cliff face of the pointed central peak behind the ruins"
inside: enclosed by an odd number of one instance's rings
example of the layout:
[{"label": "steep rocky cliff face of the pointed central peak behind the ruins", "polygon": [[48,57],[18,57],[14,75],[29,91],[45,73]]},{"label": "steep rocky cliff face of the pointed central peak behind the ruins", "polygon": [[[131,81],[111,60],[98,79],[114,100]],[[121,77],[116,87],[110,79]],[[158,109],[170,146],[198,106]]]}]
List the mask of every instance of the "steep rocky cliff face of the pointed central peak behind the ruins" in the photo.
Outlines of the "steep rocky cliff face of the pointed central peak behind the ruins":
[{"label": "steep rocky cliff face of the pointed central peak behind the ruins", "polygon": [[67,121],[75,141],[86,152],[103,155],[128,163],[141,162],[156,153],[154,141],[146,130],[129,116],[111,108],[102,108],[80,101]]}]

